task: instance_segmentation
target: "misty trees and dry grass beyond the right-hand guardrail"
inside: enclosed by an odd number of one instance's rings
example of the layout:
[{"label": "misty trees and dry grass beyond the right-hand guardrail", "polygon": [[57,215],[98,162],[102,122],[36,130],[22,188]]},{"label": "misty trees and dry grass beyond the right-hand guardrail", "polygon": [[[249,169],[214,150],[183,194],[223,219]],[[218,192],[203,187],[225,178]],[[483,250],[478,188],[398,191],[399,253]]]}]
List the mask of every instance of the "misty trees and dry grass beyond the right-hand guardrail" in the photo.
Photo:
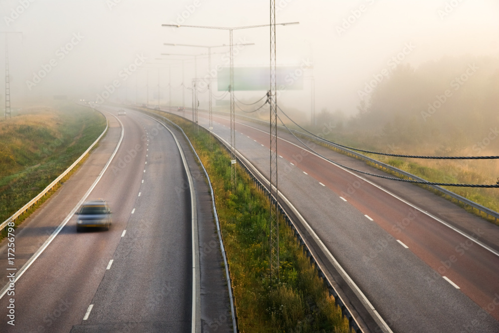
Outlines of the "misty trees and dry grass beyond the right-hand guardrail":
[{"label": "misty trees and dry grass beyond the right-hand guardrail", "polygon": [[[355,116],[323,109],[312,131],[327,133],[325,137],[334,142],[385,153],[496,156],[498,96],[498,57],[446,57],[418,68],[401,65],[361,100]],[[493,185],[499,177],[497,159],[366,155],[432,182]],[[447,189],[499,211],[497,188]]]}]

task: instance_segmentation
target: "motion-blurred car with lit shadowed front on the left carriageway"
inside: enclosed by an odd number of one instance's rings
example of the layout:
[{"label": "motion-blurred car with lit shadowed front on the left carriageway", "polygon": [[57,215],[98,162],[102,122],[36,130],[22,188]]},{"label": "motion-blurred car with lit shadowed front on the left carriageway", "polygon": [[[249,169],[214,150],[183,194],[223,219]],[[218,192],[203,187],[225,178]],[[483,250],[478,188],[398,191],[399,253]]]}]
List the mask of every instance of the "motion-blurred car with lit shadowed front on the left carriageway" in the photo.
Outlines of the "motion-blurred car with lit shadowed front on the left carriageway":
[{"label": "motion-blurred car with lit shadowed front on the left carriageway", "polygon": [[76,231],[84,228],[104,228],[109,230],[111,225],[111,209],[104,200],[86,201],[76,213]]}]

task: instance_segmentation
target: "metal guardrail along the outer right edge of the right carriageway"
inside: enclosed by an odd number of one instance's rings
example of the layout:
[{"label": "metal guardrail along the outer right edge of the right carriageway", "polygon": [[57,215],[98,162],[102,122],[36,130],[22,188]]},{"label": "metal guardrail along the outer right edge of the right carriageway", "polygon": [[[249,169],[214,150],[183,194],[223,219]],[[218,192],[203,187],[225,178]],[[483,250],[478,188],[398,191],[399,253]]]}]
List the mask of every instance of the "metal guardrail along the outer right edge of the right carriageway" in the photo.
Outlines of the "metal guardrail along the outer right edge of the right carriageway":
[{"label": "metal guardrail along the outer right edge of the right carriageway", "polygon": [[[220,111],[214,111],[214,113],[223,114],[223,115],[227,115],[228,114],[227,112],[220,112]],[[248,121],[251,121],[251,122],[263,125],[263,126],[269,126],[270,125],[270,123],[267,122],[267,121],[263,121],[263,120],[251,118],[251,117],[248,117],[248,116],[245,116],[245,115],[236,114],[236,116],[239,117],[239,118],[243,118],[243,119],[246,119]],[[277,127],[279,129],[281,129],[281,130],[287,131],[287,129],[285,127],[283,127],[283,126],[277,126]],[[321,138],[309,135],[307,133],[300,132],[300,131],[295,130],[295,129],[291,129],[290,128],[289,130],[293,131],[293,133],[296,134],[296,135],[299,135],[301,137],[307,138],[308,140],[325,144],[325,145],[330,146],[330,147],[332,147],[332,148],[334,148],[336,150],[339,150],[339,151],[341,151],[343,153],[346,153],[346,154],[351,155],[351,156],[353,156],[355,158],[361,159],[361,160],[363,160],[365,162],[373,163],[375,166],[381,167],[382,169],[390,170],[390,171],[392,171],[392,172],[394,172],[396,174],[399,174],[400,176],[412,178],[412,179],[418,180],[418,181],[427,181],[427,180],[425,180],[425,179],[423,179],[421,177],[413,175],[413,174],[411,174],[409,172],[406,172],[404,170],[400,170],[400,169],[398,169],[398,168],[396,168],[394,166],[385,164],[385,163],[380,162],[378,160],[375,160],[373,158],[367,157],[367,156],[365,156],[365,155],[363,155],[361,153],[358,153],[356,151],[353,151],[353,150],[346,149],[346,148],[340,147],[338,145],[335,145],[332,142],[327,141],[325,139],[321,139]],[[306,149],[306,148],[304,147],[303,149]],[[437,192],[440,192],[446,198],[448,196],[449,198],[451,198],[451,201],[452,201],[452,199],[455,199],[456,201],[461,202],[462,204],[470,206],[473,209],[476,209],[479,212],[484,213],[485,215],[487,215],[487,217],[493,217],[496,222],[498,221],[499,213],[496,212],[496,211],[494,211],[494,210],[491,210],[491,209],[489,209],[487,207],[484,207],[484,206],[482,206],[480,204],[477,204],[474,201],[471,201],[471,200],[469,200],[469,199],[467,199],[465,197],[462,197],[459,194],[456,194],[456,193],[451,192],[449,190],[446,190],[446,189],[444,189],[444,188],[442,188],[440,186],[437,186],[437,185],[426,185],[426,184],[424,184],[424,185],[432,188],[433,190],[435,190]]]}]

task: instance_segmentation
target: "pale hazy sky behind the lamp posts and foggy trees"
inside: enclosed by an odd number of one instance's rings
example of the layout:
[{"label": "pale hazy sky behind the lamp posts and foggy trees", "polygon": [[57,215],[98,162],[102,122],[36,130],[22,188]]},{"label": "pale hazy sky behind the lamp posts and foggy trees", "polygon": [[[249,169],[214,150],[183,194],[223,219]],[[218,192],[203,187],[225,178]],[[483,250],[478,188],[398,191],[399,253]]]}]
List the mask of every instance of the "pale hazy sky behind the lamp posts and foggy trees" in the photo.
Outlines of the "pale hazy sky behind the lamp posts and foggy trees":
[{"label": "pale hazy sky behind the lamp posts and foggy trees", "polygon": [[[313,59],[316,111],[327,108],[355,112],[360,101],[358,91],[399,60],[417,67],[446,55],[499,56],[497,0],[276,0],[276,5],[277,22],[300,22],[277,27],[277,62],[306,67]],[[161,53],[200,54],[207,50],[163,43],[228,44],[229,31],[166,28],[161,24],[268,24],[269,1],[0,0],[0,15],[1,31],[22,32],[22,38],[8,36],[12,107],[19,99],[41,95],[96,99],[113,82],[120,88],[110,94],[110,99],[128,95],[134,100],[137,85],[139,100],[145,100],[147,78],[152,100],[156,98],[153,94],[158,88],[158,72],[161,103],[168,104],[168,63],[173,64],[172,99],[178,104],[180,63],[156,58],[167,58]],[[235,65],[268,65],[268,36],[268,27],[235,30],[235,42],[255,43],[239,52]],[[218,48],[213,52],[227,50]],[[213,55],[214,67],[226,64],[222,57]],[[0,58],[4,58],[4,52],[0,52]],[[134,64],[141,65],[140,69],[128,76],[123,70],[135,69]],[[157,66],[161,68],[146,69]],[[198,76],[206,75],[207,68],[207,58],[198,59]],[[279,101],[309,113],[312,70],[307,67],[303,73],[304,89],[283,92]],[[36,74],[44,77],[37,79]],[[192,60],[185,62],[185,75],[190,85],[194,77]],[[3,103],[4,88],[0,89]],[[202,103],[208,99],[206,94],[200,95]],[[248,100],[263,94],[237,93]],[[186,101],[190,102],[190,96]]]}]

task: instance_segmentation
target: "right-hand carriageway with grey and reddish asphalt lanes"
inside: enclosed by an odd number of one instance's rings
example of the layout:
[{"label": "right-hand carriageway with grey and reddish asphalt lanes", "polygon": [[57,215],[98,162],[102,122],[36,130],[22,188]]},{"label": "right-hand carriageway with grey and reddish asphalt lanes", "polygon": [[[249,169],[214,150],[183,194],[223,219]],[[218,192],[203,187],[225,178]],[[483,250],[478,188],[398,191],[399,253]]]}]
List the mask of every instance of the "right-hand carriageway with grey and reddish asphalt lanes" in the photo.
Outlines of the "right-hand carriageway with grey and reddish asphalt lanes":
[{"label": "right-hand carriageway with grey and reddish asphalt lanes", "polygon": [[[191,114],[186,111],[188,119]],[[206,113],[199,119],[208,127]],[[236,122],[236,149],[268,174],[268,128]],[[214,133],[230,140],[228,116],[214,115],[213,126]],[[279,132],[279,191],[393,332],[498,330],[499,309],[491,307],[499,287],[494,225],[417,186],[357,176],[297,145],[290,134]],[[373,171],[362,161],[315,148],[339,163]],[[466,222],[462,228],[469,237],[437,216],[451,224]],[[490,244],[493,252],[474,240]]]}]

